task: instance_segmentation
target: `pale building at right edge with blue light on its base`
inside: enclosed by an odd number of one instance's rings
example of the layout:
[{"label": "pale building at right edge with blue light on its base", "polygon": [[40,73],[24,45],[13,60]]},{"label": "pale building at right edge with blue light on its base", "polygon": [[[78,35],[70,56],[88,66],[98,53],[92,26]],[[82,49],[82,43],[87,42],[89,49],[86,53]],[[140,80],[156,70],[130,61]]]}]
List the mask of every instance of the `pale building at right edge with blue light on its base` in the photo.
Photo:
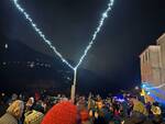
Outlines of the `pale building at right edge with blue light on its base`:
[{"label": "pale building at right edge with blue light on its base", "polygon": [[144,83],[143,90],[146,91],[145,101],[165,103],[165,34],[157,40],[156,45],[150,45],[140,55],[140,59],[141,80]]}]

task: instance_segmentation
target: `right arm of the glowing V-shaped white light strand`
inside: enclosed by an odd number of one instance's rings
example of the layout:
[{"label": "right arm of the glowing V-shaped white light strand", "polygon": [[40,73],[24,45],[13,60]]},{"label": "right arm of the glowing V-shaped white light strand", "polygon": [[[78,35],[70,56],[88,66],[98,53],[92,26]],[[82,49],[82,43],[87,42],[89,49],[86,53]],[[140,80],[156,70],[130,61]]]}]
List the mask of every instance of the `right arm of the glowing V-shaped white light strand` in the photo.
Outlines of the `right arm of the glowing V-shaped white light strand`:
[{"label": "right arm of the glowing V-shaped white light strand", "polygon": [[82,60],[85,59],[85,57],[87,56],[87,53],[89,52],[89,49],[91,48],[92,44],[94,44],[94,41],[96,40],[98,33],[100,32],[103,23],[105,23],[105,20],[108,18],[108,13],[109,11],[112,10],[112,5],[114,3],[114,0],[110,0],[109,3],[108,3],[108,9],[102,13],[102,16],[101,16],[101,20],[99,22],[99,25],[98,27],[96,29],[94,35],[92,35],[92,38],[90,41],[90,43],[88,44],[88,46],[86,47],[82,56],[80,57],[79,61],[77,63],[77,66],[75,67],[75,69],[77,69],[79,67],[79,65],[82,63]]}]

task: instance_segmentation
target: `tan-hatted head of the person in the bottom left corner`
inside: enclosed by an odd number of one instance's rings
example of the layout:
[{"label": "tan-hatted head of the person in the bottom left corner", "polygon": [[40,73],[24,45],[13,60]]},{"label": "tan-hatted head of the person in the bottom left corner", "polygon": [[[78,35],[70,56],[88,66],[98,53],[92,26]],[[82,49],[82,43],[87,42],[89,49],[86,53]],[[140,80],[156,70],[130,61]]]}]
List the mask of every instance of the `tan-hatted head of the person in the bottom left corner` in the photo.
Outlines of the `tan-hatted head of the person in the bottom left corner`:
[{"label": "tan-hatted head of the person in the bottom left corner", "polygon": [[24,103],[21,100],[14,101],[7,110],[7,113],[10,113],[16,119],[20,119],[23,114]]}]

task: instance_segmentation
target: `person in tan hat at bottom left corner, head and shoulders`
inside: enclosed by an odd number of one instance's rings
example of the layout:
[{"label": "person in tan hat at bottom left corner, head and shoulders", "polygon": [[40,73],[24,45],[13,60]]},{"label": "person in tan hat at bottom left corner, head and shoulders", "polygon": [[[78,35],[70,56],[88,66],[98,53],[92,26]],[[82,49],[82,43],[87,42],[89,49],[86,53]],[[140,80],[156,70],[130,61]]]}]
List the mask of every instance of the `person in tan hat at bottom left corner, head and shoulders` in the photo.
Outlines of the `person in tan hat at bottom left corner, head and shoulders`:
[{"label": "person in tan hat at bottom left corner, head and shoulders", "polygon": [[7,113],[0,117],[0,124],[19,124],[24,110],[23,101],[16,100],[8,108]]}]

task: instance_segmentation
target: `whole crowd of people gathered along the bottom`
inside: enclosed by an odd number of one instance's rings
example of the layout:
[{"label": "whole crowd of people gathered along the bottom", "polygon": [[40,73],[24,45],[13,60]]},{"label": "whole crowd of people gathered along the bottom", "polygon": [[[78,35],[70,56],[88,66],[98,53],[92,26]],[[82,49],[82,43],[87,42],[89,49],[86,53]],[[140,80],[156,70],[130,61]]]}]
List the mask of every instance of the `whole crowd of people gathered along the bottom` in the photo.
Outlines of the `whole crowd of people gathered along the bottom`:
[{"label": "whole crowd of people gathered along the bottom", "polygon": [[74,103],[65,95],[0,98],[0,124],[165,124],[162,113],[157,102],[133,94],[102,99],[90,93]]}]

